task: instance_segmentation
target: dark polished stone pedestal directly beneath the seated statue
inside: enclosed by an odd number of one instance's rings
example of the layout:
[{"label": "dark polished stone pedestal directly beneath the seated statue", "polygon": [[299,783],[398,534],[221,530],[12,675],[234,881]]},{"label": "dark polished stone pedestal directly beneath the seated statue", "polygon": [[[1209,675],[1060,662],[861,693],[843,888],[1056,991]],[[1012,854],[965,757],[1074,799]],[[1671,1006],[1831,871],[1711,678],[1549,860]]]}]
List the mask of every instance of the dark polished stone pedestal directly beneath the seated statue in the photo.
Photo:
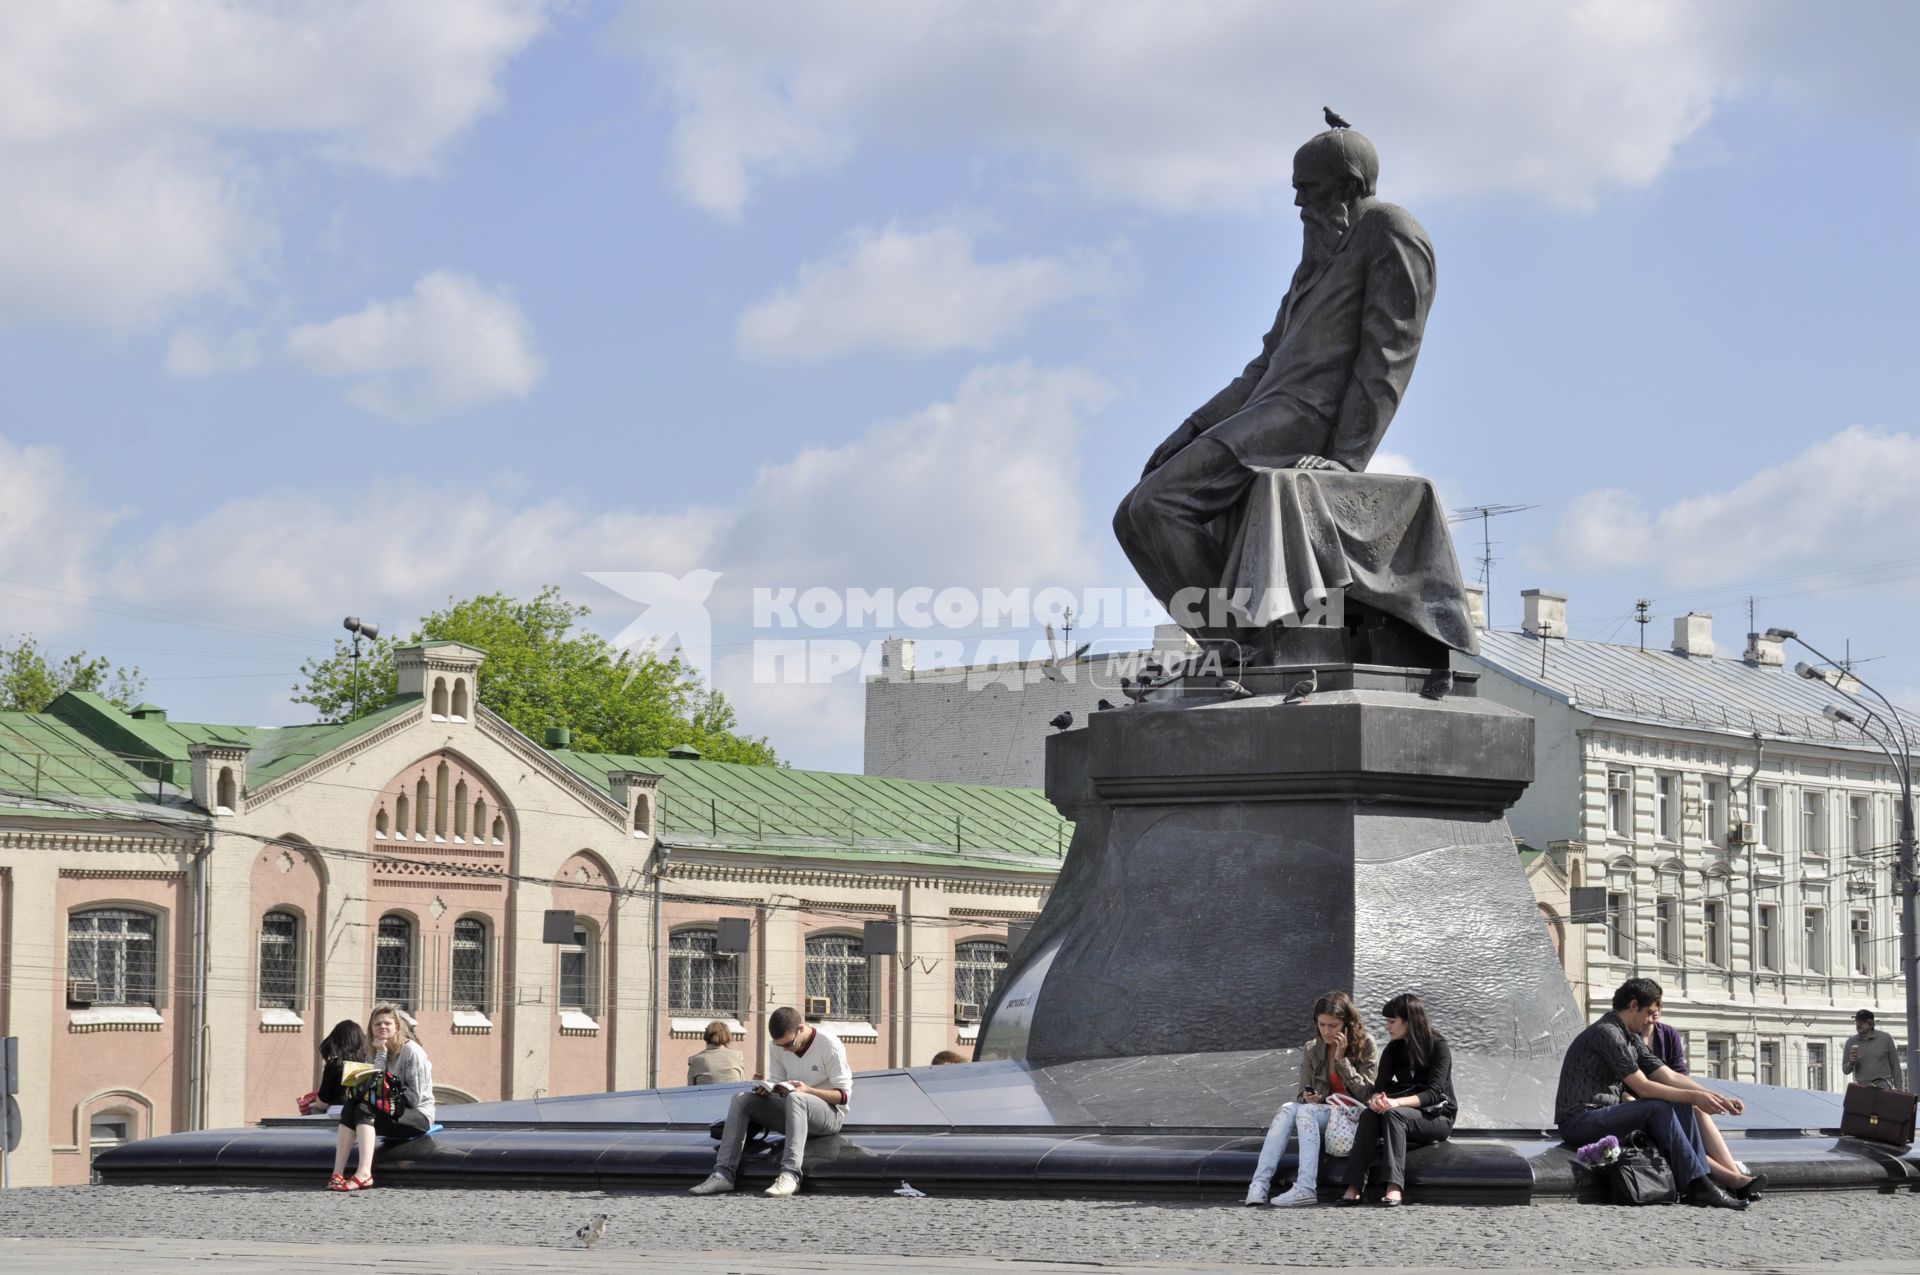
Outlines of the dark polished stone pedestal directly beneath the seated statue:
[{"label": "dark polished stone pedestal directly beneath the seated statue", "polygon": [[1348,989],[1369,1016],[1417,991],[1455,1052],[1557,1066],[1582,1022],[1503,816],[1532,730],[1478,699],[1338,689],[1142,703],[1052,737],[1073,845],[979,1056],[1296,1046],[1313,997]]}]

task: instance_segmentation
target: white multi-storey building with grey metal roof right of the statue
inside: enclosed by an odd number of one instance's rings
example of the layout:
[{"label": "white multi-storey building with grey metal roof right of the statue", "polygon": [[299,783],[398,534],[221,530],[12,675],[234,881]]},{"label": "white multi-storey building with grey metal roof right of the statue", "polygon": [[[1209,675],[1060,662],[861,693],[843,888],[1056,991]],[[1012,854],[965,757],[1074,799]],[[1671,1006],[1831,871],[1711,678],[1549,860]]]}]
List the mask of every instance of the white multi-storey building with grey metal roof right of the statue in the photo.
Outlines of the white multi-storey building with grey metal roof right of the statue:
[{"label": "white multi-storey building with grey metal roof right of the statue", "polygon": [[[1523,597],[1523,632],[1459,659],[1538,722],[1507,818],[1549,851],[1530,876],[1588,1012],[1653,977],[1697,1075],[1841,1089],[1857,1010],[1905,1037],[1887,758],[1820,714],[1845,701],[1778,641],[1720,653],[1705,614],[1667,649],[1576,641],[1563,595]],[[1567,924],[1576,887],[1605,891],[1596,924]]]}]

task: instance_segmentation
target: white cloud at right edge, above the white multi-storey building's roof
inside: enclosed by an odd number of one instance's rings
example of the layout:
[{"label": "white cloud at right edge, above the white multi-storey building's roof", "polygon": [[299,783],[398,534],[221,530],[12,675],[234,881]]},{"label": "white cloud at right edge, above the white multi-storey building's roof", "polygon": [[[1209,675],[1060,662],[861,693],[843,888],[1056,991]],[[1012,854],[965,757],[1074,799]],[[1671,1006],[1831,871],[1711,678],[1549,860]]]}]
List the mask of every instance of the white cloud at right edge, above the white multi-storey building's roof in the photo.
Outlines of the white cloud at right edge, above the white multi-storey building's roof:
[{"label": "white cloud at right edge, above the white multi-storey building's roof", "polygon": [[1832,570],[1899,557],[1912,543],[1916,486],[1920,438],[1849,426],[1734,488],[1659,511],[1630,492],[1588,492],[1561,517],[1553,549],[1574,570],[1649,568],[1688,588]]}]

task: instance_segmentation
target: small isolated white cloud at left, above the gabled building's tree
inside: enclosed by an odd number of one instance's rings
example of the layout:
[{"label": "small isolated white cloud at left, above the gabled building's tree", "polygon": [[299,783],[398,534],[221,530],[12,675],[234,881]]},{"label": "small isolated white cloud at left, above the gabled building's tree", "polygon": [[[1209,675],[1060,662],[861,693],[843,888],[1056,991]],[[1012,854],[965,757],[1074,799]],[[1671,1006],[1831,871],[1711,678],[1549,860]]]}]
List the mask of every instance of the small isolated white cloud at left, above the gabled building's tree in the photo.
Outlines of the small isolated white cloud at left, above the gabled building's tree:
[{"label": "small isolated white cloud at left, above the gabled building's tree", "polygon": [[520,307],[451,271],[396,301],[294,328],[286,349],[311,373],[353,378],[348,397],[394,421],[526,397],[545,371]]}]

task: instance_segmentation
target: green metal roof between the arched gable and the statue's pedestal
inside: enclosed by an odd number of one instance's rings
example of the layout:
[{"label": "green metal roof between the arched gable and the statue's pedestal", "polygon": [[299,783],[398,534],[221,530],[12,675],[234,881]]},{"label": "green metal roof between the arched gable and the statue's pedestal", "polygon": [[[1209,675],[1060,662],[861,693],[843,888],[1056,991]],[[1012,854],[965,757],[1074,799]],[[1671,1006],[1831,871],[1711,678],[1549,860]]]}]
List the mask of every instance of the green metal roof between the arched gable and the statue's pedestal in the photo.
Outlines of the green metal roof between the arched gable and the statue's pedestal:
[{"label": "green metal roof between the arched gable and the statue's pedestal", "polygon": [[1073,826],[1027,787],[933,783],[553,749],[595,787],[614,770],[660,776],[666,841],[726,851],[1056,872]]}]

